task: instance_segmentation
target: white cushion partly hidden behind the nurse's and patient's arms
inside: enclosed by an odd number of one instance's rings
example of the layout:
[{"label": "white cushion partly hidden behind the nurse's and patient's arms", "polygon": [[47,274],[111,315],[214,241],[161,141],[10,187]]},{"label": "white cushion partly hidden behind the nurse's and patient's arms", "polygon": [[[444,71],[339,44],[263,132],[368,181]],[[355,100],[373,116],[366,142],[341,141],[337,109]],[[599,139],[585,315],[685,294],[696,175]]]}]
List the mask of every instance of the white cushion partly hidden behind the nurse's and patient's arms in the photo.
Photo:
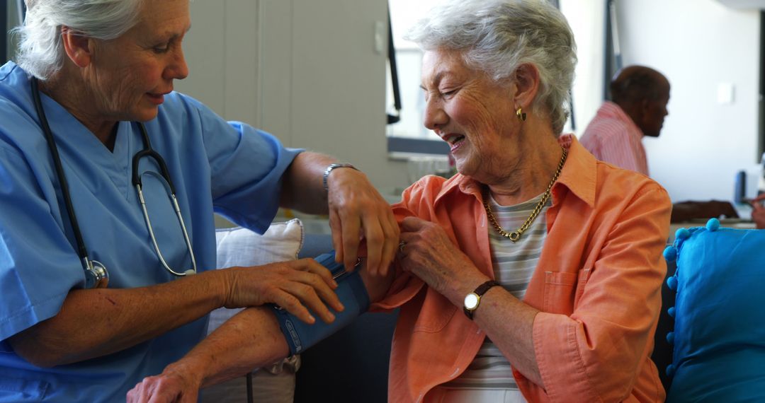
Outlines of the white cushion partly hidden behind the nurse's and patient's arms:
[{"label": "white cushion partly hidden behind the nurse's and patient's arms", "polygon": [[[223,228],[216,230],[217,265],[219,269],[232,266],[262,266],[268,263],[297,260],[303,247],[303,224],[297,218],[271,224],[265,234],[257,234],[246,228]],[[218,328],[242,308],[219,308],[210,312],[207,334]],[[299,357],[298,357],[299,358]],[[297,362],[296,362],[297,361]],[[292,358],[284,370],[256,371],[252,376],[253,401],[291,402],[295,396],[295,369],[299,360]],[[295,368],[295,369],[292,369]],[[247,401],[245,378],[231,379],[202,389],[201,402]]]}]

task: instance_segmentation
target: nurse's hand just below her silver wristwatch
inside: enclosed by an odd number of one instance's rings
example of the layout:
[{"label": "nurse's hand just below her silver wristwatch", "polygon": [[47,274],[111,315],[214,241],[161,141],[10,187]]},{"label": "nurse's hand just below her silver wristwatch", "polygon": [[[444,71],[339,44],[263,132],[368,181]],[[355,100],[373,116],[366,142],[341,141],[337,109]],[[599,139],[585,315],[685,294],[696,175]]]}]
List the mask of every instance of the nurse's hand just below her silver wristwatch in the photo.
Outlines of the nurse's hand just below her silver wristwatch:
[{"label": "nurse's hand just below her silver wristwatch", "polygon": [[347,268],[355,266],[363,237],[367,269],[385,275],[399,246],[399,224],[390,205],[366,175],[356,169],[334,169],[327,178],[327,185],[332,246],[337,262],[343,262]]}]

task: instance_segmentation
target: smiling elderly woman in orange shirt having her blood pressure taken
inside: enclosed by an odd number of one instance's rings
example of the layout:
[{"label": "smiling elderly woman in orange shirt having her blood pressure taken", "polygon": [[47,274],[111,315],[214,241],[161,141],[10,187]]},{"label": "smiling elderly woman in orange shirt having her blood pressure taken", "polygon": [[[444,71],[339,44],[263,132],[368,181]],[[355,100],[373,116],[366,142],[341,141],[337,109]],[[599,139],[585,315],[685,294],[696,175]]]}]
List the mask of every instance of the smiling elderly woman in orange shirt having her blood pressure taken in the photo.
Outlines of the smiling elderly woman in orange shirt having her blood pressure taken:
[{"label": "smiling elderly woman in orange shirt having her blood pressure taken", "polygon": [[[459,173],[405,190],[390,285],[367,273],[376,308],[401,307],[389,401],[663,401],[649,355],[669,198],[561,134],[565,18],[543,0],[454,0],[409,38],[425,50],[425,126]],[[234,355],[214,344],[146,382],[207,379],[203,351]]]}]

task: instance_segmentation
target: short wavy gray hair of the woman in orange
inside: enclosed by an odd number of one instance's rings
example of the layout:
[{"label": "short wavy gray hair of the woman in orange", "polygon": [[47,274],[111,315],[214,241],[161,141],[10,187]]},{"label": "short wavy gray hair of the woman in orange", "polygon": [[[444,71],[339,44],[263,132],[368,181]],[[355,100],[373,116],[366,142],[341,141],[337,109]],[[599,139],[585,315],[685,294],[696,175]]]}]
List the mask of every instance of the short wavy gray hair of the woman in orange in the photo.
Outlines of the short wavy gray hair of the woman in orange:
[{"label": "short wavy gray hair of the woman in orange", "polygon": [[563,131],[576,43],[565,17],[546,0],[448,0],[405,38],[425,50],[459,50],[468,67],[496,82],[512,77],[524,63],[533,64],[541,81],[533,107],[541,105],[549,114],[556,136]]}]

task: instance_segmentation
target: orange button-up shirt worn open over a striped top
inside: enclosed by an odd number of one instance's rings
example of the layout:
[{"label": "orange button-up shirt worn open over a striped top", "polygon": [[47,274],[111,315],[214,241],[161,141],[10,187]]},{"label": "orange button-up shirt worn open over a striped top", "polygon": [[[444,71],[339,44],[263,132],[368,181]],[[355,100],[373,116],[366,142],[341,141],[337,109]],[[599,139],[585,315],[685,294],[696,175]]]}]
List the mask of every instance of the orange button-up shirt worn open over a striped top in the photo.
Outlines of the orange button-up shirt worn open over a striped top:
[{"label": "orange button-up shirt worn open over a striped top", "polygon": [[[571,135],[552,189],[547,238],[523,301],[539,309],[534,349],[546,390],[515,371],[529,401],[663,401],[649,358],[666,273],[669,196],[635,172],[595,160]],[[427,176],[394,206],[441,224],[493,278],[480,183],[457,174]],[[376,309],[401,307],[393,337],[389,401],[422,401],[474,359],[484,333],[422,280],[398,269]]]}]

